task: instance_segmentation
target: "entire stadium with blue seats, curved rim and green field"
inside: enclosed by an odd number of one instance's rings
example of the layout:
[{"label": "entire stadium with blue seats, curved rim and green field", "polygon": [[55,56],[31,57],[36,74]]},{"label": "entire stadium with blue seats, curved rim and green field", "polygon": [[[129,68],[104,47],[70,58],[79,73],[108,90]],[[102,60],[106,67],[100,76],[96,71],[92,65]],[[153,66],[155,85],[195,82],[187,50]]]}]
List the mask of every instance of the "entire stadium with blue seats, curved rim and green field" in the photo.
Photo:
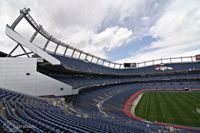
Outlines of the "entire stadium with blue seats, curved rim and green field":
[{"label": "entire stadium with blue seats, curved rim and green field", "polygon": [[[15,30],[22,19],[30,38]],[[6,35],[16,46],[0,52],[1,132],[200,132],[200,55],[115,63],[58,40],[29,8]]]}]

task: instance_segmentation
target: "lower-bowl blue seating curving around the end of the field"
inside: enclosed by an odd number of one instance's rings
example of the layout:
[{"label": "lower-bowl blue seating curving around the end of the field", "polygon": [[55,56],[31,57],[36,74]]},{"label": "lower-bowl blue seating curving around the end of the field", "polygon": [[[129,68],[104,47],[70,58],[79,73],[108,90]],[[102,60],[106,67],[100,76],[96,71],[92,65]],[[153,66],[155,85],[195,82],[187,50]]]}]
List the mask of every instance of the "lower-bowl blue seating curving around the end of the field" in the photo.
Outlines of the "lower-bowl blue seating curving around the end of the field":
[{"label": "lower-bowl blue seating curving around the end of the field", "polygon": [[[150,124],[135,121],[132,118],[126,116],[123,112],[123,106],[125,102],[133,93],[139,91],[140,89],[180,89],[187,84],[187,82],[165,82],[162,84],[130,83],[118,86],[102,87],[98,90],[93,90],[89,92],[85,91],[80,95],[74,97],[73,108],[82,115],[107,119],[109,121],[120,122],[123,124],[132,125],[134,127],[143,127],[147,132],[158,132],[158,129],[165,129],[165,127],[154,123]],[[99,104],[100,106],[98,106]],[[149,125],[148,128],[147,125]],[[181,132],[187,131],[181,130]]]}]

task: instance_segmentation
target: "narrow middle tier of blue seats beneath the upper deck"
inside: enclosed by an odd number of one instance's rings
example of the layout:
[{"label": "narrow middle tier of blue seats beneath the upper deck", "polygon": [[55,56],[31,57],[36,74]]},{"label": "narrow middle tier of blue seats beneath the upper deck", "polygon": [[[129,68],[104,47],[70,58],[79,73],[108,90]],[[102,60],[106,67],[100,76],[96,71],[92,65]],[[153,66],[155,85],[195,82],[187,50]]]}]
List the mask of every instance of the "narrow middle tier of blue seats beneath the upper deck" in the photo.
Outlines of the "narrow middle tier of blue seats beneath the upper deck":
[{"label": "narrow middle tier of blue seats beneath the upper deck", "polygon": [[[51,73],[47,71],[46,73]],[[148,82],[166,82],[172,80],[196,80],[199,79],[199,73],[179,73],[179,74],[162,74],[162,75],[147,75],[147,76],[102,76],[102,75],[64,75],[51,74],[51,77],[73,86],[74,89],[98,86],[102,84],[120,84],[120,83],[148,83]],[[182,87],[183,88],[183,87]]]}]

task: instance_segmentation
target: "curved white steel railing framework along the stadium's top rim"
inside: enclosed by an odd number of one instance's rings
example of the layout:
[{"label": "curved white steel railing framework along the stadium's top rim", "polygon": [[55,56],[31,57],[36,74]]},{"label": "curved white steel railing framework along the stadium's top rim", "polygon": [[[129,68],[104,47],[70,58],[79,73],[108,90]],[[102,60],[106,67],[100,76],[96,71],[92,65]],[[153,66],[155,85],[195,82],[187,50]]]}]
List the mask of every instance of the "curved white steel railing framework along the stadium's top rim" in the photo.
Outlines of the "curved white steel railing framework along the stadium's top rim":
[{"label": "curved white steel railing framework along the stadium's top rim", "polygon": [[[64,42],[59,41],[57,38],[55,38],[50,33],[45,31],[41,25],[38,25],[35,22],[35,20],[31,17],[29,12],[30,12],[30,8],[24,8],[24,9],[20,10],[20,15],[14,21],[14,23],[11,26],[11,28],[14,30],[14,28],[17,26],[17,24],[23,18],[25,18],[27,20],[27,22],[35,29],[35,33],[33,34],[33,36],[30,39],[31,41],[33,41],[35,39],[37,33],[40,33],[44,38],[47,39],[47,42],[46,42],[44,48],[40,47],[41,49],[45,50],[46,52],[49,52],[48,50],[46,50],[46,48],[47,48],[49,42],[53,42],[54,44],[56,44],[56,48],[53,50],[54,54],[61,55],[61,53],[58,53],[57,49],[58,49],[59,46],[62,46],[62,47],[65,48],[64,53],[62,53],[63,56],[67,56],[67,53],[69,53],[68,51],[71,50],[72,53],[71,53],[71,55],[69,55],[69,57],[78,58],[80,60],[85,60],[87,62],[95,63],[95,64],[102,65],[102,66],[109,67],[109,68],[124,69],[124,64],[122,64],[122,63],[115,63],[115,62],[103,59],[101,57],[97,57],[97,56],[92,55],[90,53],[87,53],[87,52],[84,52],[82,50],[79,50],[79,49],[77,49],[75,47],[72,47],[69,44],[66,44]],[[75,57],[75,53],[78,53],[78,57]],[[85,58],[81,58],[82,55],[85,55]],[[90,58],[90,59],[88,59],[88,58]],[[175,61],[175,60],[179,60],[179,59],[180,59],[180,61]],[[156,60],[150,60],[150,61],[144,61],[144,62],[135,63],[136,64],[135,67],[138,68],[138,67],[145,67],[145,66],[163,64],[163,63],[181,63],[181,62],[184,62],[183,61],[184,59],[189,59],[189,61],[186,61],[186,62],[194,62],[194,61],[196,61],[195,56],[161,58],[161,59],[156,59]],[[168,60],[168,62],[167,62],[167,60]]]}]

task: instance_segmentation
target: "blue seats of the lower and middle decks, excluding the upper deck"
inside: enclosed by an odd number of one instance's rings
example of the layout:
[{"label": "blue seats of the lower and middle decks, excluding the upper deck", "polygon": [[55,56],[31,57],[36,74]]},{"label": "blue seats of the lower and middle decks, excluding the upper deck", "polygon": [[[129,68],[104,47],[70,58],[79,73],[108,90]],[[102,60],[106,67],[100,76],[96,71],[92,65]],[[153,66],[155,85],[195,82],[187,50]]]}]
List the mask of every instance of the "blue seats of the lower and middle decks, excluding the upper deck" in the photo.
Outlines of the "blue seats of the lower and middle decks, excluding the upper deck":
[{"label": "blue seats of the lower and middle decks, excluding the upper deck", "polygon": [[74,89],[85,87],[68,101],[70,111],[53,106],[44,98],[0,89],[0,102],[5,108],[4,115],[0,116],[1,130],[19,133],[158,132],[166,128],[133,120],[123,113],[127,98],[141,88],[200,88],[199,75],[199,71],[188,71],[187,75],[175,73],[132,77],[52,73],[52,77],[71,84]]}]

